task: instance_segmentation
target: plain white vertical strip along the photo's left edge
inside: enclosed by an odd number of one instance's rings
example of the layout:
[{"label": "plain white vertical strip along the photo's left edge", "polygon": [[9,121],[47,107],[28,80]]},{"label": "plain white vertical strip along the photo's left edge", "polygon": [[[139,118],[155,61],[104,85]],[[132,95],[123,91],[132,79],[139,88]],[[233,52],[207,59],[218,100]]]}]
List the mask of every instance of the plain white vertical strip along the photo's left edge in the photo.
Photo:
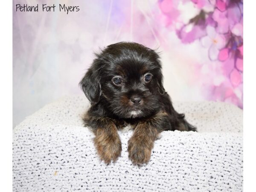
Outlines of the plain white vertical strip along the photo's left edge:
[{"label": "plain white vertical strip along the photo's left edge", "polygon": [[12,1],[1,1],[1,191],[12,191]]}]

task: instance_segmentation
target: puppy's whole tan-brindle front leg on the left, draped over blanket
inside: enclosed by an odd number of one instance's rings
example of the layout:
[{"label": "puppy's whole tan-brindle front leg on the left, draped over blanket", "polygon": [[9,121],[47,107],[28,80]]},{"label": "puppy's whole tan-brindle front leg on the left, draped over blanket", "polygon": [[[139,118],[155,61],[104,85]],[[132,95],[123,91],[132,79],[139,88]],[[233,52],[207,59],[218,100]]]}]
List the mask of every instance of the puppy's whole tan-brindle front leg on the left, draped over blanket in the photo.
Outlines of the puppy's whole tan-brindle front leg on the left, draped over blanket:
[{"label": "puppy's whole tan-brindle front leg on the left, draped over blanket", "polygon": [[[116,130],[116,125],[109,119],[101,119],[105,125],[98,126],[94,130],[94,145],[97,149],[99,157],[105,163],[111,160],[116,161],[121,155],[122,145]],[[103,123],[100,123],[103,124]]]}]

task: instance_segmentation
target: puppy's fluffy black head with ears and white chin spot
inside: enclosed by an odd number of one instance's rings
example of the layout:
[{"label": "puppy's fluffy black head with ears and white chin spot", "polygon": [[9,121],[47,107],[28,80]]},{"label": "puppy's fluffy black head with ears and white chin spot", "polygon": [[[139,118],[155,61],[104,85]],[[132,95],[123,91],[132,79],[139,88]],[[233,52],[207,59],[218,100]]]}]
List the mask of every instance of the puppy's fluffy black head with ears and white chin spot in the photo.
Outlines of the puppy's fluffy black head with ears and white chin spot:
[{"label": "puppy's fluffy black head with ears and white chin spot", "polygon": [[120,42],[96,56],[80,82],[92,104],[102,101],[120,118],[140,118],[157,111],[165,90],[159,56],[154,50]]}]

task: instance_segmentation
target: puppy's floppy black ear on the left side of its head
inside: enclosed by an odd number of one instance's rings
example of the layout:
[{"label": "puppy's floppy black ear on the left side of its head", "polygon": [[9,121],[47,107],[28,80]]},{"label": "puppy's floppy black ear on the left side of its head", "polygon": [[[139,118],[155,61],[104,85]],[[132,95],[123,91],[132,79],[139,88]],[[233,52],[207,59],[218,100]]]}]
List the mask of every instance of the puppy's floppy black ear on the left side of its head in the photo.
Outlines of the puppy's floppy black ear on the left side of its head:
[{"label": "puppy's floppy black ear on the left side of its head", "polygon": [[89,99],[91,104],[98,103],[101,96],[101,85],[99,82],[100,78],[98,73],[98,70],[92,70],[92,68],[90,68],[79,83],[85,96],[87,99]]}]

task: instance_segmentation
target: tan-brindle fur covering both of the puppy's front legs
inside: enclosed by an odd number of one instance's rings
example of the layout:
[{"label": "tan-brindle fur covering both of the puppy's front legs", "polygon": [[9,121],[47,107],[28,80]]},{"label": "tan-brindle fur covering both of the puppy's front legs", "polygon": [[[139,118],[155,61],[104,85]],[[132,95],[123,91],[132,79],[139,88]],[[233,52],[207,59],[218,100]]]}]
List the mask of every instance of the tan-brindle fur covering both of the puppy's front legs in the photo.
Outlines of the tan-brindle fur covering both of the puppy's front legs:
[{"label": "tan-brindle fur covering both of the puppy's front legs", "polygon": [[[131,125],[131,128],[134,129],[134,134],[128,141],[128,152],[129,158],[134,164],[148,163],[154,147],[154,141],[159,134],[155,125],[167,115],[165,111],[160,111],[154,116],[140,121],[138,124]],[[122,151],[117,129],[122,129],[126,123],[102,116],[85,115],[84,119],[90,119],[90,121],[104,125],[104,127],[94,129],[94,145],[101,160],[105,163],[115,162]]]}]

